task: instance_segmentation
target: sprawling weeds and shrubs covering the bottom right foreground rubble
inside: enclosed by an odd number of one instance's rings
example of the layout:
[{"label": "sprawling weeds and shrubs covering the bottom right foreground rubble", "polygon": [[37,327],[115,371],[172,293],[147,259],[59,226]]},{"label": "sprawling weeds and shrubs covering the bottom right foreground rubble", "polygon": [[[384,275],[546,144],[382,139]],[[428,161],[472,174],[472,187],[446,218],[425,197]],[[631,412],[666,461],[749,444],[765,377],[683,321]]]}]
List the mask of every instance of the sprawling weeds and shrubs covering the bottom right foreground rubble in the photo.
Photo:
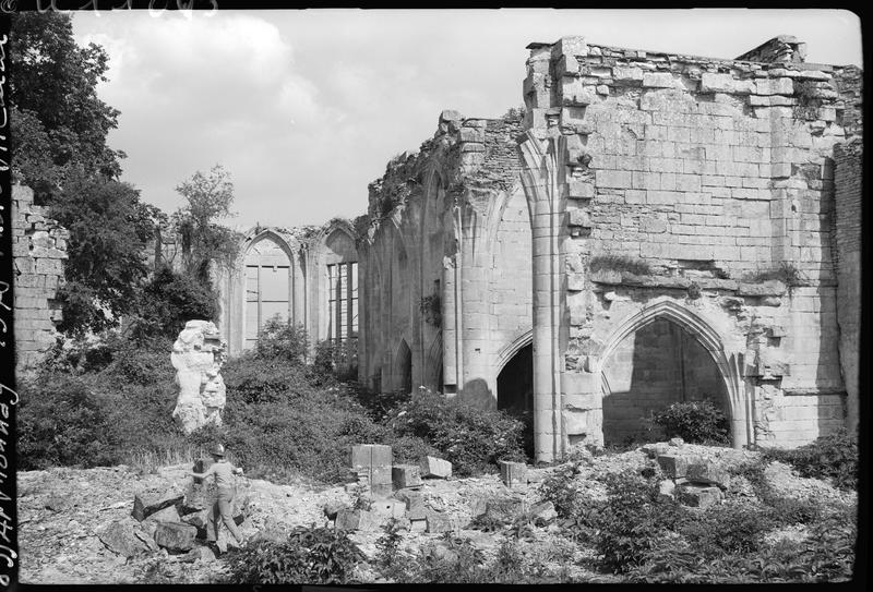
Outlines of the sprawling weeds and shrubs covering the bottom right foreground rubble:
[{"label": "sprawling weeds and shrubs covering the bottom right foreground rubble", "polygon": [[[540,485],[564,536],[593,544],[589,566],[622,581],[651,583],[826,582],[851,577],[856,509],[815,498],[787,497],[765,476],[768,459],[736,468],[752,485],[728,490],[723,503],[686,508],[659,496],[658,471],[644,478],[598,478],[606,497],[579,486],[579,466],[567,464]],[[802,537],[785,537],[801,529]]]}]

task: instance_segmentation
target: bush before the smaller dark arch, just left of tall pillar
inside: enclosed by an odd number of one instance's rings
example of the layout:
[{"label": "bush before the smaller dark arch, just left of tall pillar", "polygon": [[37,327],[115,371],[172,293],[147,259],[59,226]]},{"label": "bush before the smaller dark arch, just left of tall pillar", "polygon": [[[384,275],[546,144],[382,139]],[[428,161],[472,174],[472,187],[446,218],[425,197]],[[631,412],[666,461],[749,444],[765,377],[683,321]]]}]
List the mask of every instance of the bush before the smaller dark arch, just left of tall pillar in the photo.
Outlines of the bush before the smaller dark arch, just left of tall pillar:
[{"label": "bush before the smaller dark arch, just left of tall pillar", "polygon": [[436,448],[459,476],[493,471],[499,460],[525,460],[522,422],[439,392],[415,395],[392,410],[386,424],[398,436],[416,436]]}]

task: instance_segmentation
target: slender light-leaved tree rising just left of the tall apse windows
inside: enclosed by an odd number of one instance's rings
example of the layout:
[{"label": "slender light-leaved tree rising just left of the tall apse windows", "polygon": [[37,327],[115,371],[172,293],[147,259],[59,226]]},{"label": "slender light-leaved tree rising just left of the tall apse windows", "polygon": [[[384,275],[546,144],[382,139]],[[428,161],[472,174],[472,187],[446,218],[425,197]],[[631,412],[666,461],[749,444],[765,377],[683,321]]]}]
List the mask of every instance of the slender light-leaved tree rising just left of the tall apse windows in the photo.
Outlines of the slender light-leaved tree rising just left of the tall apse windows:
[{"label": "slender light-leaved tree rising just left of the tall apse windows", "polygon": [[236,215],[230,210],[234,183],[230,174],[215,165],[208,174],[196,171],[176,191],[188,201],[172,215],[182,239],[183,265],[189,274],[208,283],[212,265],[229,265],[239,251],[239,234],[218,223]]}]

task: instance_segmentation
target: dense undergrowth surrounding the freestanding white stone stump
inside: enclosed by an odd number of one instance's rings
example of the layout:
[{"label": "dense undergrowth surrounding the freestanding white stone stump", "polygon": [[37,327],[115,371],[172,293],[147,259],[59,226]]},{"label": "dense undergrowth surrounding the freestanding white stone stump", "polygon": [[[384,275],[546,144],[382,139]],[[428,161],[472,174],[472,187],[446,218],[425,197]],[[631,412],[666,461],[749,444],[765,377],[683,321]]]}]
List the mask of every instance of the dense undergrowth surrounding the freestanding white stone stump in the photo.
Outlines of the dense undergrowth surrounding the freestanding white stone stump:
[{"label": "dense undergrowth surrounding the freestanding white stone stump", "polygon": [[524,458],[522,424],[504,413],[439,394],[418,397],[420,406],[366,394],[340,382],[332,365],[307,364],[307,342],[300,327],[271,319],[258,347],[222,370],[224,424],[190,436],[171,418],[178,388],[169,338],[110,333],[59,347],[39,375],[22,384],[21,468],[158,463],[215,440],[250,476],[279,483],[299,475],[342,482],[351,446],[361,443],[391,445],[398,462],[442,456],[462,475]]}]

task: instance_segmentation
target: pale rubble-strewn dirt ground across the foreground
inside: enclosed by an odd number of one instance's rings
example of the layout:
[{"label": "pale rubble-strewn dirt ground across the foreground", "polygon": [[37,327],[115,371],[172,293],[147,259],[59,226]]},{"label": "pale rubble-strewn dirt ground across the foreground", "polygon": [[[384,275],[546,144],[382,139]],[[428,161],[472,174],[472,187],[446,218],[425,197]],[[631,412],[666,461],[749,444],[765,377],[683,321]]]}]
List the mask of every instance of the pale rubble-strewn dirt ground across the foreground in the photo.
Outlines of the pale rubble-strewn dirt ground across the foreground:
[{"label": "pale rubble-strewn dirt ground across the foreground", "polygon": [[[716,459],[725,466],[742,462],[756,455],[748,450],[694,445],[684,445],[683,452]],[[597,496],[602,494],[602,485],[596,479],[598,475],[639,471],[653,462],[641,449],[595,457],[590,462],[579,466],[581,472],[574,479],[574,486]],[[137,474],[127,467],[87,470],[60,468],[17,473],[21,581],[33,584],[218,581],[226,570],[222,558],[215,559],[208,555],[187,563],[182,560],[182,555],[168,554],[154,545],[152,551],[143,555],[125,558],[110,551],[99,537],[99,533],[113,521],[120,521],[132,531],[141,531],[141,525],[130,517],[134,494],[144,490],[183,491],[190,483],[186,473],[188,469],[188,466],[166,467],[152,474]],[[538,473],[541,479],[557,469],[543,468],[531,472]],[[815,496],[824,502],[852,502],[856,496],[818,480],[799,478],[789,467],[778,462],[770,464],[766,476],[777,491],[793,497]],[[739,486],[742,487],[742,483]],[[499,475],[483,475],[426,480],[420,491],[429,507],[445,511],[457,525],[456,536],[468,539],[488,556],[497,552],[505,533],[467,528],[473,502],[481,497],[513,494],[533,505],[541,499],[538,490],[539,483],[535,482],[510,491]],[[323,511],[325,503],[354,503],[352,494],[344,485],[277,485],[238,478],[237,491],[238,495],[249,499],[248,518],[241,525],[246,536],[282,527],[326,525],[330,521]],[[536,528],[519,541],[518,547],[555,571],[565,567],[576,581],[595,578],[595,573],[586,572],[577,565],[583,556],[593,551],[586,548],[584,543],[576,544],[563,539],[559,531],[554,524]],[[368,557],[372,557],[376,552],[375,541],[381,534],[381,530],[356,531],[350,536]],[[418,531],[405,531],[403,534],[403,548],[409,553],[442,536]],[[786,532],[784,535],[799,534]],[[143,540],[147,537],[142,532],[140,536]],[[374,571],[366,565],[359,577],[363,581],[378,581]]]}]

